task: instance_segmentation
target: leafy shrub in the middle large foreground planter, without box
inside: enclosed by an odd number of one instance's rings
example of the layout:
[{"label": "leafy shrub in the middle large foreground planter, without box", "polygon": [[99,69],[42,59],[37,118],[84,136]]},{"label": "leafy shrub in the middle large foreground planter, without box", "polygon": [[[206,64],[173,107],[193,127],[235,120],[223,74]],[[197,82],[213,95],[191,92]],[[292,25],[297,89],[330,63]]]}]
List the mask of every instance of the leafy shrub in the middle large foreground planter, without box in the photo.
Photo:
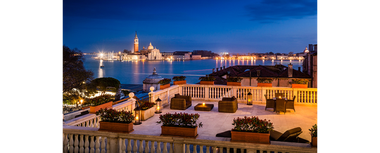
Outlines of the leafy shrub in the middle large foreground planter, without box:
[{"label": "leafy shrub in the middle large foreground planter, without box", "polygon": [[[184,128],[196,128],[198,124],[196,121],[199,118],[199,114],[182,114],[175,112],[175,114],[160,115],[160,121],[157,123],[163,123],[163,126],[179,126]],[[199,128],[202,128],[202,122],[199,123]]]}]

